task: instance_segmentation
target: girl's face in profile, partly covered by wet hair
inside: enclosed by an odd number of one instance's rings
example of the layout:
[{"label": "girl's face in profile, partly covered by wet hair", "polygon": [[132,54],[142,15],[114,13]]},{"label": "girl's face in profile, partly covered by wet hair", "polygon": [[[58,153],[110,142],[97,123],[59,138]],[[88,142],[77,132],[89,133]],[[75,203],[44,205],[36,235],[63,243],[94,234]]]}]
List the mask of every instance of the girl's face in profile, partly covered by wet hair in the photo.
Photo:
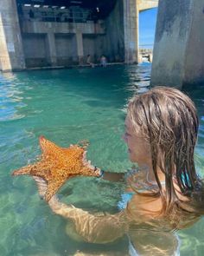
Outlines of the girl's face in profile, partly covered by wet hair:
[{"label": "girl's face in profile, partly covered by wet hair", "polygon": [[150,144],[146,141],[140,131],[132,127],[131,119],[127,115],[125,119],[124,141],[128,146],[129,158],[138,165],[146,165],[151,161]]}]

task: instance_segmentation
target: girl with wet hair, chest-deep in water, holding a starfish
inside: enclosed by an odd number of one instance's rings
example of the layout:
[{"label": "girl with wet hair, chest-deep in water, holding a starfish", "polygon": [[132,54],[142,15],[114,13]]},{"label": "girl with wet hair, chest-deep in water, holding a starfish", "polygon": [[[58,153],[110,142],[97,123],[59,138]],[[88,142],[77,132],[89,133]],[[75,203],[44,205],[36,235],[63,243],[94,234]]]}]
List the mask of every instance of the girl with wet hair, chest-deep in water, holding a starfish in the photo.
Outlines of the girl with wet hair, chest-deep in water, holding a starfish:
[{"label": "girl with wet hair, chest-deep in water, holding a starfish", "polygon": [[[175,255],[179,242],[169,232],[191,226],[204,213],[204,186],[194,167],[198,125],[194,103],[178,89],[156,87],[133,97],[124,141],[138,168],[124,175],[104,174],[106,180],[126,181],[118,204],[121,211],[96,216],[61,203],[56,196],[48,202],[49,207],[72,220],[73,229],[83,240],[107,243],[126,233],[130,250],[137,255],[148,246],[141,242],[147,240],[147,233],[165,232],[160,243],[156,240],[159,244],[149,244],[149,251],[152,255]],[[37,181],[43,196],[47,185]]]}]

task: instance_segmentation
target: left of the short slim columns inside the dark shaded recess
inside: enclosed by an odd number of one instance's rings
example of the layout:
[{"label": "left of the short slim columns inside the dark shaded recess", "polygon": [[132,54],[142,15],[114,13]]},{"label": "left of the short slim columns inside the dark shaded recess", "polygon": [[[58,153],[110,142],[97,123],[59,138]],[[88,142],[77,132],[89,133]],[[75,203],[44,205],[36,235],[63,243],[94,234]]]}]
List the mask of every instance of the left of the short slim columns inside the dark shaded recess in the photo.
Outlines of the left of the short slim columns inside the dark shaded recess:
[{"label": "left of the short slim columns inside the dark shaded recess", "polygon": [[47,34],[47,42],[48,42],[48,62],[51,66],[56,66],[57,64],[57,54],[56,54],[56,45],[55,45],[55,37],[54,33],[49,32]]}]

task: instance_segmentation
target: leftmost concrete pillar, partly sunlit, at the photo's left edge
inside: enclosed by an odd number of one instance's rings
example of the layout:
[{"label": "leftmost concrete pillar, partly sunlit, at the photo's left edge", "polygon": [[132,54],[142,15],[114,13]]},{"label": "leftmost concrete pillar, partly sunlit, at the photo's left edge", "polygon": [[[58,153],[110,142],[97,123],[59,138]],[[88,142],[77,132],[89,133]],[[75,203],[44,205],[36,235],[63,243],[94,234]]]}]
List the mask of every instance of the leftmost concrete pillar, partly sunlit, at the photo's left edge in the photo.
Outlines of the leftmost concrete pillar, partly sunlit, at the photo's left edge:
[{"label": "leftmost concrete pillar, partly sunlit, at the photo's left edge", "polygon": [[16,0],[0,1],[0,62],[3,71],[25,69]]}]

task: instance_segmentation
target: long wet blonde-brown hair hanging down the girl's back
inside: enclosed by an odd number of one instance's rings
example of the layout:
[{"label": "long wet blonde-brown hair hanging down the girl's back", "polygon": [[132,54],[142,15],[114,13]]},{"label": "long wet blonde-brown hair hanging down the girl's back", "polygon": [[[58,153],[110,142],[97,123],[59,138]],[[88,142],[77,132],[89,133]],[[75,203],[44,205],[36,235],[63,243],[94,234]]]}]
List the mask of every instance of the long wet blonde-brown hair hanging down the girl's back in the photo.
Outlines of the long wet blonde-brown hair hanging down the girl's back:
[{"label": "long wet blonde-brown hair hanging down the girl's back", "polygon": [[[203,182],[194,167],[194,147],[199,121],[194,102],[178,89],[156,87],[129,103],[132,126],[150,142],[152,167],[158,191],[149,196],[161,197],[162,213],[175,209],[199,216],[204,213]],[[165,175],[165,188],[156,168]],[[175,185],[188,200],[178,198]]]}]

